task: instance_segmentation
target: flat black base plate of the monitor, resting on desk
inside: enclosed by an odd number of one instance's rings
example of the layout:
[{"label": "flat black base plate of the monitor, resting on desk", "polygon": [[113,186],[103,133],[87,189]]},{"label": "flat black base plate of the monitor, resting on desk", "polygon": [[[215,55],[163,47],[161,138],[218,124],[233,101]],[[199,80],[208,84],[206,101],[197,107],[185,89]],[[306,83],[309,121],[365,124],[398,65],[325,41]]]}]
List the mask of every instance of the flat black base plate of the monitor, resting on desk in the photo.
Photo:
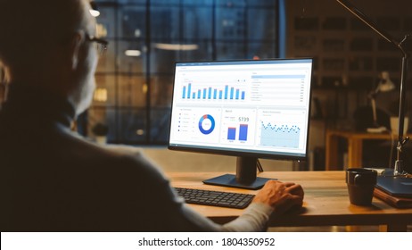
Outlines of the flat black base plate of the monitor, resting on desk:
[{"label": "flat black base plate of the monitor, resting on desk", "polygon": [[239,183],[236,180],[236,176],[234,174],[224,174],[215,178],[205,179],[203,180],[204,184],[208,185],[215,185],[215,186],[223,186],[223,187],[237,187],[243,189],[251,189],[257,190],[262,188],[265,183],[268,181],[268,178],[256,178],[253,182],[249,184]]}]

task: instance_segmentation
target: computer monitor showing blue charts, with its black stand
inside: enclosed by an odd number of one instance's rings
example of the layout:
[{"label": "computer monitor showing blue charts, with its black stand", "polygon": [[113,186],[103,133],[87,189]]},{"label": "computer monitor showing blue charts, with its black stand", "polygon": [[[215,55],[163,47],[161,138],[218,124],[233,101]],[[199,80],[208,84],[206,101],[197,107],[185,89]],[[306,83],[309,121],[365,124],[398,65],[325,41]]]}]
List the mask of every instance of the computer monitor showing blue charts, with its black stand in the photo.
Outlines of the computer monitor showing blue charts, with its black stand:
[{"label": "computer monitor showing blue charts, with its black stand", "polygon": [[312,59],[176,63],[169,149],[238,156],[236,175],[203,182],[262,187],[259,158],[307,157],[311,73]]}]

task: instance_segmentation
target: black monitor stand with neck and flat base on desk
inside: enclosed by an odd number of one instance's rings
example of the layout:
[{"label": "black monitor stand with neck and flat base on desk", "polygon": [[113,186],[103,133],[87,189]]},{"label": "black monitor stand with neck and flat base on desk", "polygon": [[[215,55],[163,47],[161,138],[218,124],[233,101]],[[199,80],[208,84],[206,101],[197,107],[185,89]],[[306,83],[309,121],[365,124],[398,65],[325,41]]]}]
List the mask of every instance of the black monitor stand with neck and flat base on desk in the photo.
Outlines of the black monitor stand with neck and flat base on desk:
[{"label": "black monitor stand with neck and flat base on desk", "polygon": [[203,180],[203,183],[251,190],[260,189],[269,179],[256,177],[257,164],[258,158],[256,157],[237,157],[236,175],[224,174],[212,179],[205,179]]}]

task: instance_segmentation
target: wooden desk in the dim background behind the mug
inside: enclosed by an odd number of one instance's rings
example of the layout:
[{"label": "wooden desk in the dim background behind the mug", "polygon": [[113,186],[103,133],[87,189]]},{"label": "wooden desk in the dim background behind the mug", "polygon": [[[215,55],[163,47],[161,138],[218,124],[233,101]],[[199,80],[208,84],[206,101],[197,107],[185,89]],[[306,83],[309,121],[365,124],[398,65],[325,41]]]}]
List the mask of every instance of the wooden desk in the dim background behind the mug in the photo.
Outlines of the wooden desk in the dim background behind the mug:
[{"label": "wooden desk in the dim background behind the mug", "polygon": [[[398,143],[397,136],[391,136],[389,133],[367,133],[343,130],[327,130],[325,145],[325,170],[338,170],[338,139],[345,138],[348,141],[348,166],[345,167],[362,167],[362,145],[366,139],[394,139]],[[408,135],[411,137],[411,135]]]}]

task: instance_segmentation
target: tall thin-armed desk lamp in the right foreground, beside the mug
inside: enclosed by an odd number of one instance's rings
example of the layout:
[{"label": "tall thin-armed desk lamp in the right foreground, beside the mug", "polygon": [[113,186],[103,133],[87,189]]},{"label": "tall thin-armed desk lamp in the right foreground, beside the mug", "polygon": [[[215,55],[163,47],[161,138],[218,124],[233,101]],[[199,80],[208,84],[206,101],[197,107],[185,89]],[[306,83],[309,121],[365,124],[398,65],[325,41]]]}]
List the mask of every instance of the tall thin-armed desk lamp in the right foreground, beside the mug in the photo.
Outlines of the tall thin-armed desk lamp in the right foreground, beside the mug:
[{"label": "tall thin-armed desk lamp in the right foreground, beside the mug", "polygon": [[412,35],[407,34],[405,37],[398,42],[396,39],[387,34],[384,30],[377,27],[374,21],[370,20],[367,15],[363,12],[360,12],[353,4],[350,4],[347,0],[336,0],[339,4],[342,4],[349,12],[355,15],[359,21],[365,23],[370,29],[373,29],[378,35],[383,37],[386,41],[391,43],[393,46],[398,48],[402,54],[402,69],[400,72],[400,111],[399,111],[399,130],[398,130],[398,146],[397,146],[397,160],[395,162],[395,167],[393,170],[393,175],[398,176],[404,174],[403,171],[403,146],[408,143],[409,137],[404,137],[403,127],[405,121],[405,96],[406,91],[406,80],[407,80],[407,71],[408,71],[408,59],[409,54],[405,49],[405,43]]}]

